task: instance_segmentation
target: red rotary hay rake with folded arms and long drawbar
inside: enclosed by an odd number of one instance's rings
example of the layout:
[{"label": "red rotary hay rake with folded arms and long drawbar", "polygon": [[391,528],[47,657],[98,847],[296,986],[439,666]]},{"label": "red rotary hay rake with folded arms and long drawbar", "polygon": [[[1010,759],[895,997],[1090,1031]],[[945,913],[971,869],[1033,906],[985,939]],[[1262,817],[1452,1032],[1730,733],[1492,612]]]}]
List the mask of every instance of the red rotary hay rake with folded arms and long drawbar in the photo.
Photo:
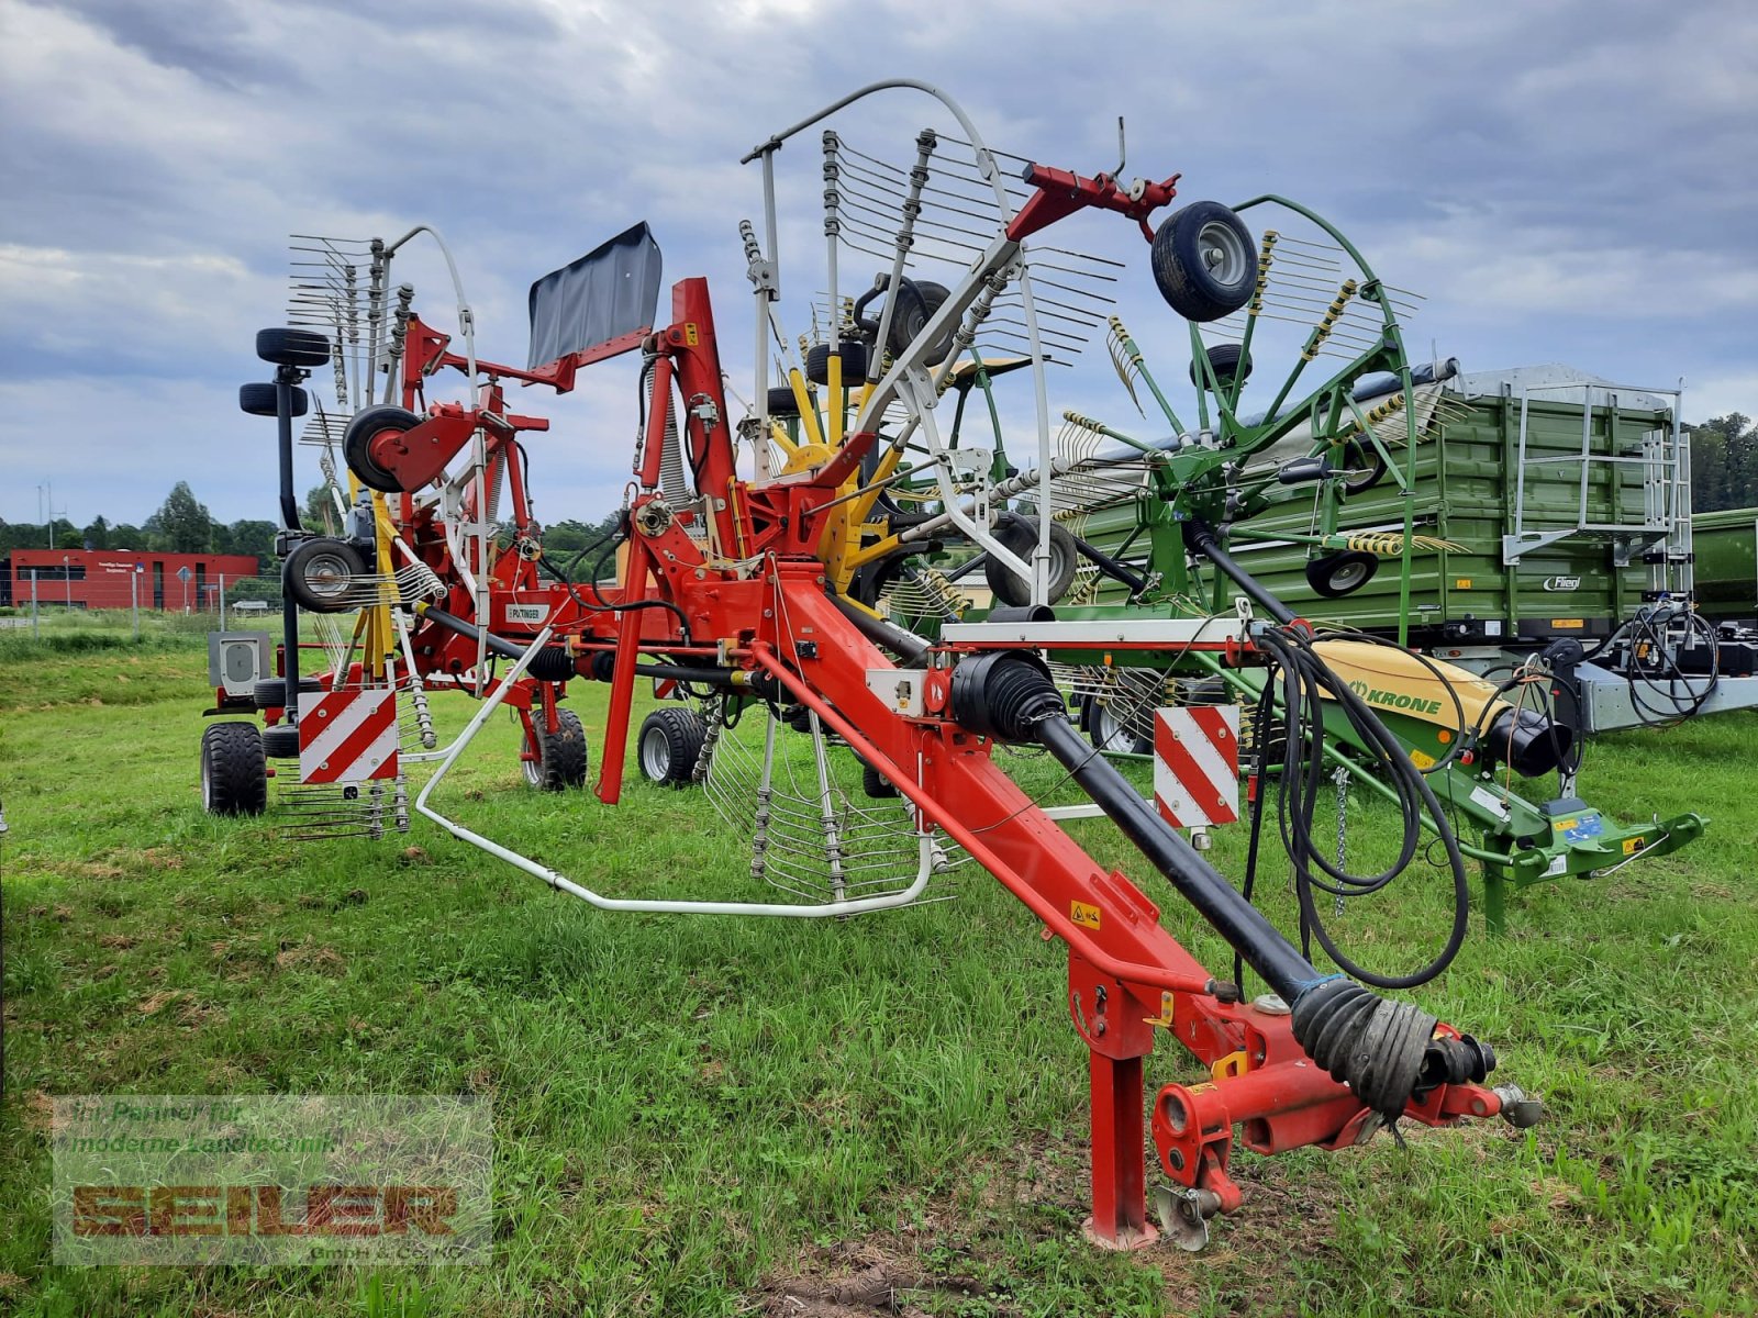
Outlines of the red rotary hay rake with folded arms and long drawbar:
[{"label": "red rotary hay rake with folded arms and long drawbar", "polygon": [[[872,239],[861,248],[849,241],[847,230],[826,221],[828,343],[795,353],[779,330],[775,309],[775,155],[825,116],[897,86],[933,95],[956,119],[962,137],[925,132],[918,137],[914,167],[890,176],[904,204],[890,251],[879,251],[891,269],[875,283],[874,293],[884,299],[877,316],[861,318],[856,311],[847,318],[835,274],[839,250],[868,251]],[[828,139],[826,134],[826,148]],[[967,155],[944,160],[948,141]],[[1034,603],[993,610],[984,622],[949,624],[930,641],[879,617],[844,589],[847,575],[839,555],[863,534],[851,510],[861,501],[870,506],[883,492],[883,482],[895,471],[888,455],[902,452],[907,436],[926,436],[928,466],[937,471],[972,469],[944,452],[933,408],[953,383],[960,358],[977,351],[986,322],[1009,306],[1028,343],[1042,422],[1042,362],[1050,353],[1039,320],[1048,306],[1039,293],[1065,253],[1028,239],[1085,211],[1118,213],[1153,239],[1157,267],[1171,262],[1171,278],[1157,272],[1174,309],[1194,316],[1201,308],[1197,315],[1215,316],[1243,306],[1252,288],[1250,265],[1243,285],[1229,269],[1225,234],[1187,232],[1188,223],[1180,216],[1188,218],[1197,207],[1150,227],[1150,216],[1173,200],[1176,176],[1123,185],[1108,174],[1083,177],[1027,162],[1021,170],[1027,192],[1016,197],[995,153],[963,112],[944,93],[912,83],[867,88],[768,139],[751,158],[763,165],[768,206],[765,239],[758,241],[754,228],[745,230],[759,350],[756,408],[742,422],[733,422],[728,406],[703,279],[673,285],[666,323],[638,330],[628,316],[610,323],[607,306],[615,297],[607,290],[628,286],[633,278],[631,251],[614,244],[603,260],[568,267],[547,285],[540,281],[543,292],[533,293],[534,360],[584,364],[592,353],[608,351],[601,346],[610,343],[640,346],[643,353],[645,416],[621,525],[615,590],[594,585],[587,597],[571,582],[540,585],[534,571],[543,562],[541,550],[520,552],[517,540],[492,564],[487,557],[473,559],[464,531],[483,520],[483,490],[496,453],[513,483],[515,506],[520,501],[520,466],[513,460],[520,424],[501,409],[499,380],[564,387],[571,367],[520,373],[489,367],[471,351],[464,369],[473,380],[476,373],[494,378],[475,388],[471,406],[436,406],[424,413],[418,388],[410,381],[434,364],[455,366],[459,358],[410,320],[401,404],[374,404],[350,422],[343,443],[350,469],[397,506],[396,534],[411,555],[452,582],[445,608],[415,606],[413,638],[429,647],[417,648],[417,659],[431,654],[429,668],[452,671],[487,694],[422,787],[417,810],[454,836],[614,912],[805,919],[868,914],[919,900],[932,873],[958,854],[974,859],[1067,945],[1065,1009],[1090,1054],[1086,1230],[1108,1248],[1134,1248],[1157,1235],[1146,1209],[1143,1149],[1150,1132],[1171,1183],[1159,1195],[1160,1223],[1180,1244],[1199,1248],[1208,1237],[1208,1220],[1239,1206],[1239,1186],[1229,1170],[1236,1128],[1248,1149],[1282,1153],[1301,1146],[1347,1148],[1399,1119],[1431,1126],[1496,1114],[1514,1125],[1535,1121],[1536,1100],[1515,1086],[1486,1086],[1496,1063],[1487,1044],[1415,1003],[1315,967],[1071,726],[1046,663],[1046,657],[1099,663],[1101,655],[1127,663],[1176,650],[1208,654],[1232,666],[1278,657],[1285,671],[1297,664],[1306,664],[1308,673],[1320,671],[1311,666],[1318,661],[1311,659],[1310,636],[1297,620],[1260,622],[1248,603],[1232,615],[1208,619],[1057,620],[1042,606],[1051,550],[1048,518],[1039,524],[1035,548],[1020,538],[1002,540],[993,531],[993,510],[981,497],[963,499],[951,482],[944,485],[941,515],[1030,580]],[[874,169],[877,177],[881,170]],[[905,269],[919,237],[912,227],[923,197],[972,179],[977,193],[993,193],[993,230],[981,243],[963,244],[965,267],[949,285],[911,279]],[[1217,209],[1225,209],[1204,206],[1197,211],[1204,225]],[[1208,260],[1211,246],[1215,262]],[[657,285],[656,264],[642,269]],[[1181,304],[1180,288],[1199,297]],[[861,308],[874,301],[863,297]],[[650,313],[645,318],[654,320]],[[556,351],[540,357],[540,344]],[[782,388],[796,404],[791,413],[784,409],[786,397],[770,394],[772,350],[784,364]],[[823,392],[814,394],[809,380]],[[798,431],[784,439],[777,418],[793,415],[803,424],[807,406],[814,418],[805,425],[805,439]],[[749,460],[742,460],[742,443],[751,445]],[[475,485],[475,503],[462,489],[445,494],[459,485],[445,474],[447,464],[471,446],[478,457],[466,483]],[[1048,485],[1055,474],[1048,436],[1041,448]],[[425,518],[422,490],[436,480],[441,497],[429,499],[431,518]],[[529,540],[536,545],[536,532]],[[476,543],[485,545],[487,536],[478,534]],[[517,661],[490,691],[482,675],[485,655],[494,650],[517,654]],[[803,902],[610,896],[440,814],[429,803],[434,787],[494,710],[520,698],[517,692],[529,675],[545,682],[573,675],[608,682],[608,724],[596,780],[596,796],[605,805],[615,805],[622,794],[636,680],[694,692],[707,712],[684,717],[684,710],[663,710],[677,715],[668,721],[675,724],[672,731],[689,735],[656,743],[666,754],[652,761],[645,733],[656,724],[649,721],[642,736],[649,777],[701,778],[712,787],[724,773],[721,747],[731,740],[738,713],[758,712],[765,719],[765,756],[751,784],[758,819],[752,873],[768,863],[766,829],[781,803],[777,735],[807,733],[823,784],[828,889]],[[1338,699],[1348,703],[1347,687],[1338,687]],[[545,712],[543,726],[552,728],[554,701],[548,687],[541,691],[536,705]],[[1373,719],[1364,705],[1355,713]],[[900,794],[893,831],[919,854],[907,880],[863,887],[846,865],[849,849],[837,828],[865,824],[832,800],[825,747],[839,742],[863,764],[872,794]],[[1093,861],[1004,771],[995,750],[1006,745],[1042,747],[1062,764],[1169,884],[1171,894],[1190,903],[1269,991],[1248,1002],[1238,982],[1211,974],[1181,947],[1160,924],[1159,903],[1137,882]],[[807,791],[805,798],[810,796]],[[1445,829],[1443,821],[1440,828]],[[1150,1107],[1144,1058],[1159,1032],[1171,1033],[1206,1074],[1201,1083],[1166,1084]]]}]

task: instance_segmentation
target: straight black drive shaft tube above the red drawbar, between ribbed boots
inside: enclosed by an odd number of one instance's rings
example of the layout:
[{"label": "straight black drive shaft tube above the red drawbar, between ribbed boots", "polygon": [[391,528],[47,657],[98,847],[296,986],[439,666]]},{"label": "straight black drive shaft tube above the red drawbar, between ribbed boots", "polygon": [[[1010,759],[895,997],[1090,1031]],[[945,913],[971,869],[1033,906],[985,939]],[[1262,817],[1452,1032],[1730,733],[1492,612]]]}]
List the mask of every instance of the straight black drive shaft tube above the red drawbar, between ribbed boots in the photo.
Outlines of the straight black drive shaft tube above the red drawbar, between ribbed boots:
[{"label": "straight black drive shaft tube above the red drawbar, between ribbed boots", "polygon": [[1220,933],[1276,993],[1294,1002],[1326,975],[1246,902],[1183,835],[1160,819],[1129,780],[1095,752],[1067,719],[1042,719],[1037,742],[1069,771],[1143,856],[1164,873],[1197,914]]}]

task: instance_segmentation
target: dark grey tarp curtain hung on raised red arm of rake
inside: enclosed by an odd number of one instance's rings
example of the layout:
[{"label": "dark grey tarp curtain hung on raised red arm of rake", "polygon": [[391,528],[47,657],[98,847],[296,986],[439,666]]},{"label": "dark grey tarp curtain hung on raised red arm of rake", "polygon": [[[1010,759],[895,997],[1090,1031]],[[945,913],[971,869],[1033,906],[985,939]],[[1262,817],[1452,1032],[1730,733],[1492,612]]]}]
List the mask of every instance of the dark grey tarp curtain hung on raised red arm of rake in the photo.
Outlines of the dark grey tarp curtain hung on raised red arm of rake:
[{"label": "dark grey tarp curtain hung on raised red arm of rake", "polygon": [[531,285],[526,369],[650,329],[659,304],[659,244],[647,221]]}]

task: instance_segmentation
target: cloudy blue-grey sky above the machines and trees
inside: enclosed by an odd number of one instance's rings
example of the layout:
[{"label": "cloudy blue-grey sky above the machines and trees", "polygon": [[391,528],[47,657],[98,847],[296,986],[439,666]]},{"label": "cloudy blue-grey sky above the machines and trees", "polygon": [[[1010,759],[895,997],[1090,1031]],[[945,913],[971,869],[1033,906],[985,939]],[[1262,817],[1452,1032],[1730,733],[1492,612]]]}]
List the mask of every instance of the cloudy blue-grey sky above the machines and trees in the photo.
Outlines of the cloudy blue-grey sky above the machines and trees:
[{"label": "cloudy blue-grey sky above the machines and trees", "polygon": [[[53,480],[76,524],[139,522],[179,478],[272,517],[272,427],[236,387],[264,378],[288,232],[438,225],[482,350],[522,364],[531,279],[645,218],[668,279],[710,278],[749,392],[738,156],[897,76],[1048,163],[1109,169],[1123,114],[1129,174],[1308,202],[1427,295],[1420,355],[1682,374],[1688,420],[1758,413],[1754,70],[1751,0],[0,0],[0,518]],[[904,156],[919,107],[875,118]],[[810,151],[782,153],[803,197]],[[1151,290],[1144,244],[1108,251]],[[440,274],[399,267],[443,323]],[[1053,385],[1116,399],[1102,351]],[[519,406],[556,422],[540,517],[608,511],[633,366]]]}]

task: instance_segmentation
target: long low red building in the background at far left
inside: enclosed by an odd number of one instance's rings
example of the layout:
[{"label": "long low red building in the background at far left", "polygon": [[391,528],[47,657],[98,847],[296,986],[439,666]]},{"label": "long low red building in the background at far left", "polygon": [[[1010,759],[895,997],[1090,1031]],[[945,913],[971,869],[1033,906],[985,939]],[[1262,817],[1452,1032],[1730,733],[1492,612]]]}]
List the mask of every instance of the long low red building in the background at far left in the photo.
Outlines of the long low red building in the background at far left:
[{"label": "long low red building in the background at far left", "polygon": [[[188,580],[179,573],[188,571]],[[0,605],[28,605],[37,575],[37,603],[72,608],[128,608],[139,578],[141,608],[172,612],[214,608],[222,582],[257,575],[248,554],[156,554],[153,550],[12,550],[0,559]]]}]

